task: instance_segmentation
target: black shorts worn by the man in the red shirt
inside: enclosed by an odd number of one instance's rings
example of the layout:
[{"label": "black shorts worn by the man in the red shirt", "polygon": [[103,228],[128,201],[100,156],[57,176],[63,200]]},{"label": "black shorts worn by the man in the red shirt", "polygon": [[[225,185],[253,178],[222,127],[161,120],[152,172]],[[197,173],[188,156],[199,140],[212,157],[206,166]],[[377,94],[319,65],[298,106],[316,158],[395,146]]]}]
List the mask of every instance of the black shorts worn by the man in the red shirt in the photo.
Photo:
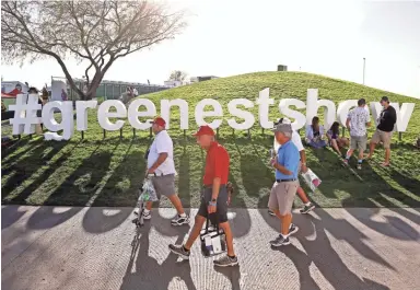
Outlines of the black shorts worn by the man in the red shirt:
[{"label": "black shorts worn by the man in the red shirt", "polygon": [[212,195],[212,188],[211,187],[205,187],[201,194],[201,204],[200,208],[198,209],[198,213],[201,217],[210,218],[211,222],[215,224],[217,222],[222,223],[228,221],[228,188],[226,185],[221,185],[218,196],[218,206],[215,214],[211,214],[209,217],[208,212],[208,206],[211,201],[211,195]]}]

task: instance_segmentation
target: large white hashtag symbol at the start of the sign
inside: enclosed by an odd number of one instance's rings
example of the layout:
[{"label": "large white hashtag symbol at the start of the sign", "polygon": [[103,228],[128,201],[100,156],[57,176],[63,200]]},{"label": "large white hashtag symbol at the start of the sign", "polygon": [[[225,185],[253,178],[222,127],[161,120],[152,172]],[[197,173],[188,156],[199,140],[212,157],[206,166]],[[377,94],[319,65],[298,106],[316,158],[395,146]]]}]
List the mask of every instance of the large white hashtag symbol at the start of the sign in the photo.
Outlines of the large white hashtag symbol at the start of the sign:
[{"label": "large white hashtag symbol at the start of the sign", "polygon": [[37,95],[19,94],[16,104],[9,106],[10,111],[14,111],[14,118],[10,119],[13,135],[34,134],[35,125],[40,124],[40,118],[36,116],[36,112],[40,108]]}]

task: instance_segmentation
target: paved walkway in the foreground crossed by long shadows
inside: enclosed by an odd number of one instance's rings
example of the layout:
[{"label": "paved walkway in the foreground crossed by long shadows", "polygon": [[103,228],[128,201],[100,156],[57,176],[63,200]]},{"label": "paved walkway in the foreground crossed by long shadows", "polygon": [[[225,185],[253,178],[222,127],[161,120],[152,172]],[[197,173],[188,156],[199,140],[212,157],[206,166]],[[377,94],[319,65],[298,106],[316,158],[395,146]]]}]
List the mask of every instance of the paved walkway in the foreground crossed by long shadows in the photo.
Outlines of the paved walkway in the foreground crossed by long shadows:
[{"label": "paved walkway in the foreground crossed by long shadows", "polygon": [[[2,207],[3,289],[420,289],[420,209],[317,209],[294,214],[300,231],[278,251],[279,222],[266,210],[231,209],[240,267],[214,269],[192,248],[167,245],[172,209],[136,230],[130,208]],[[196,210],[191,210],[195,214]]]}]

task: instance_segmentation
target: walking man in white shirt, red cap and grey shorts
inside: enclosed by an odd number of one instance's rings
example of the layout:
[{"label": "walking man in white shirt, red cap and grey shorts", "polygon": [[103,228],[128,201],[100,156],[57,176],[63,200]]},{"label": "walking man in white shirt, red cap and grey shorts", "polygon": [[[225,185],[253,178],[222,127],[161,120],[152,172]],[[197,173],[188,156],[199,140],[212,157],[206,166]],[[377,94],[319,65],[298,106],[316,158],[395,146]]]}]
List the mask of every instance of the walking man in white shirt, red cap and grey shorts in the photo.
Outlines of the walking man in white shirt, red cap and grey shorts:
[{"label": "walking man in white shirt, red cap and grey shorts", "polygon": [[[162,195],[166,196],[178,212],[177,217],[171,221],[172,225],[188,224],[189,218],[184,211],[179,197],[175,194],[174,146],[165,126],[166,121],[161,117],[152,121],[152,130],[156,137],[148,153],[148,174],[154,175],[151,178],[158,198],[160,199]],[[143,210],[144,220],[151,219],[152,205],[152,201],[147,202]]]}]

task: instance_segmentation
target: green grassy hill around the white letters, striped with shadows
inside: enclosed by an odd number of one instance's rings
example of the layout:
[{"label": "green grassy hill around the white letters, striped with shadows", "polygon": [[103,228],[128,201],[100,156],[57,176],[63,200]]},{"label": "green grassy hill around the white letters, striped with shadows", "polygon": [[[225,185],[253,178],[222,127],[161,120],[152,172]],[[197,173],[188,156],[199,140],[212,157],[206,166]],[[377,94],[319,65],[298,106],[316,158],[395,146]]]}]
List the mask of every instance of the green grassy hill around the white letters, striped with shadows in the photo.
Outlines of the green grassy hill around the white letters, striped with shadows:
[{"label": "green grassy hill around the white letters, striped with shadows", "polygon": [[[223,106],[224,120],[219,130],[219,141],[231,154],[230,179],[236,188],[233,207],[267,206],[273,182],[273,172],[268,166],[272,134],[264,132],[256,121],[248,138],[246,131],[233,131],[225,120],[230,118],[226,109],[230,100],[246,97],[255,101],[258,92],[266,88],[270,89],[270,96],[276,100],[269,114],[272,119],[280,117],[280,98],[295,97],[305,102],[306,90],[311,88],[318,89],[319,98],[332,100],[336,104],[360,97],[369,102],[377,101],[383,95],[389,96],[392,102],[416,103],[402,141],[399,142],[394,136],[393,165],[388,169],[378,165],[383,159],[381,148],[361,172],[340,166],[338,155],[330,149],[319,152],[307,149],[307,156],[308,166],[323,179],[319,190],[311,194],[319,206],[420,207],[420,152],[411,146],[420,134],[420,100],[301,72],[249,73],[142,96],[153,101],[159,113],[162,98],[179,97],[189,104],[190,129],[185,136],[179,130],[177,108],[172,111],[170,129],[175,144],[178,192],[187,207],[199,204],[205,152],[190,135],[196,129],[195,105],[206,97],[217,98]],[[257,106],[252,109],[256,118],[257,109]],[[151,141],[149,131],[136,131],[133,137],[128,123],[122,129],[122,138],[119,131],[107,132],[104,138],[95,112],[90,113],[84,140],[78,131],[68,142],[24,138],[2,152],[2,202],[133,206],[145,170],[143,155]],[[161,206],[168,204],[164,200]]]}]

